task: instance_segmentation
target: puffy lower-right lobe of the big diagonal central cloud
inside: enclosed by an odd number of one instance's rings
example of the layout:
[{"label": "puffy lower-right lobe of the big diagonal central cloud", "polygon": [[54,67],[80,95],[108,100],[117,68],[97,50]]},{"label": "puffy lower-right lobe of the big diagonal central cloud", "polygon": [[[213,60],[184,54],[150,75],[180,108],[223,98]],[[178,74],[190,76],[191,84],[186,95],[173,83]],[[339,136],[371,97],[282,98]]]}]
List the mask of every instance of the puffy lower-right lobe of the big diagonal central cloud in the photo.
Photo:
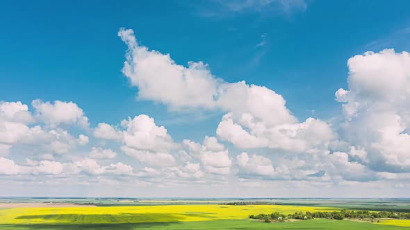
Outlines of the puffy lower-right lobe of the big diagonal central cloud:
[{"label": "puffy lower-right lobe of the big diagonal central cloud", "polygon": [[272,148],[307,152],[313,148],[325,148],[329,141],[335,138],[327,123],[314,118],[307,118],[304,123],[278,125],[255,121],[249,114],[237,118],[237,123],[234,119],[232,114],[223,116],[216,133],[220,139],[241,149]]}]

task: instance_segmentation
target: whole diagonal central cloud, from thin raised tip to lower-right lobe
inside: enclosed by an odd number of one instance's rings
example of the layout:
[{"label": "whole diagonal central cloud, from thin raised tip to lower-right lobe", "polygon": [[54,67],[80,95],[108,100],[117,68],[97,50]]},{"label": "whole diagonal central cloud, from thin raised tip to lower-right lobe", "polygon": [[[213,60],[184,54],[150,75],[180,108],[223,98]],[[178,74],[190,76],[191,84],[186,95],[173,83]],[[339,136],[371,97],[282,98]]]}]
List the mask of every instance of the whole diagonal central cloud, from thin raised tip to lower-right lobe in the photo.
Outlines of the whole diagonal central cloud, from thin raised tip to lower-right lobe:
[{"label": "whole diagonal central cloud, from thin raised tip to lower-right lobe", "polygon": [[217,134],[239,148],[306,151],[334,136],[329,125],[318,119],[297,123],[286,108],[286,100],[271,89],[244,81],[225,82],[215,78],[202,62],[189,62],[183,67],[169,54],[138,44],[133,30],[121,29],[118,35],[129,48],[123,73],[131,85],[138,87],[140,98],[159,101],[172,109],[229,112]]}]

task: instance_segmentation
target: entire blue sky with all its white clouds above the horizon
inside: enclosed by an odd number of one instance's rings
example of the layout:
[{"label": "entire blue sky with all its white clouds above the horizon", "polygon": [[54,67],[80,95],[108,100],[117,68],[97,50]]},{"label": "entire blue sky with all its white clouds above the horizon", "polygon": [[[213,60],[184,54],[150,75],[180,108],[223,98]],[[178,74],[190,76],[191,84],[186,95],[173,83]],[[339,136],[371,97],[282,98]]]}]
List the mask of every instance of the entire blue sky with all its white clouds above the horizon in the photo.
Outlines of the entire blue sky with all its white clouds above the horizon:
[{"label": "entire blue sky with all its white clouds above the horizon", "polygon": [[4,1],[0,196],[408,197],[409,1]]}]

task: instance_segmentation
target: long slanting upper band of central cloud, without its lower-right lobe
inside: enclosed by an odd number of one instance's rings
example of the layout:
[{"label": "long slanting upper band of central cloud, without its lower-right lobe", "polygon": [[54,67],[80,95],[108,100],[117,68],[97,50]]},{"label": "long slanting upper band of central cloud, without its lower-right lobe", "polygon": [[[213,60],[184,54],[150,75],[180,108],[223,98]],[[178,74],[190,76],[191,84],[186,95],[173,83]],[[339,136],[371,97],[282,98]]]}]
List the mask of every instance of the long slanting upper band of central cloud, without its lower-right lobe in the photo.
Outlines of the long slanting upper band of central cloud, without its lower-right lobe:
[{"label": "long slanting upper band of central cloud, without its lower-right lobe", "polygon": [[266,87],[244,81],[224,82],[202,62],[189,62],[188,68],[178,65],[169,54],[140,46],[133,30],[122,29],[118,35],[129,47],[123,73],[131,85],[138,87],[140,98],[159,101],[172,109],[219,107],[249,113],[269,124],[295,121],[284,98]]}]

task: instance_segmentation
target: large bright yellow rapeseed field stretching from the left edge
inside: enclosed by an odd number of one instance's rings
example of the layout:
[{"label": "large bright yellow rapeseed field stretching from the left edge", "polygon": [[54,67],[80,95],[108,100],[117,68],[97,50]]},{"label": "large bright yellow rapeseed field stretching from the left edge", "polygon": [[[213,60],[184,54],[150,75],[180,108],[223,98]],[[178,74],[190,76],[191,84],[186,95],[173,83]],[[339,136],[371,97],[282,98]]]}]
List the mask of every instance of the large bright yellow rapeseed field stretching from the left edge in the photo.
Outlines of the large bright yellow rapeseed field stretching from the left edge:
[{"label": "large bright yellow rapeseed field stretching from the left edge", "polygon": [[0,224],[116,224],[238,220],[250,214],[337,211],[338,209],[283,205],[165,205],[165,206],[76,206],[13,208],[0,210]]}]

